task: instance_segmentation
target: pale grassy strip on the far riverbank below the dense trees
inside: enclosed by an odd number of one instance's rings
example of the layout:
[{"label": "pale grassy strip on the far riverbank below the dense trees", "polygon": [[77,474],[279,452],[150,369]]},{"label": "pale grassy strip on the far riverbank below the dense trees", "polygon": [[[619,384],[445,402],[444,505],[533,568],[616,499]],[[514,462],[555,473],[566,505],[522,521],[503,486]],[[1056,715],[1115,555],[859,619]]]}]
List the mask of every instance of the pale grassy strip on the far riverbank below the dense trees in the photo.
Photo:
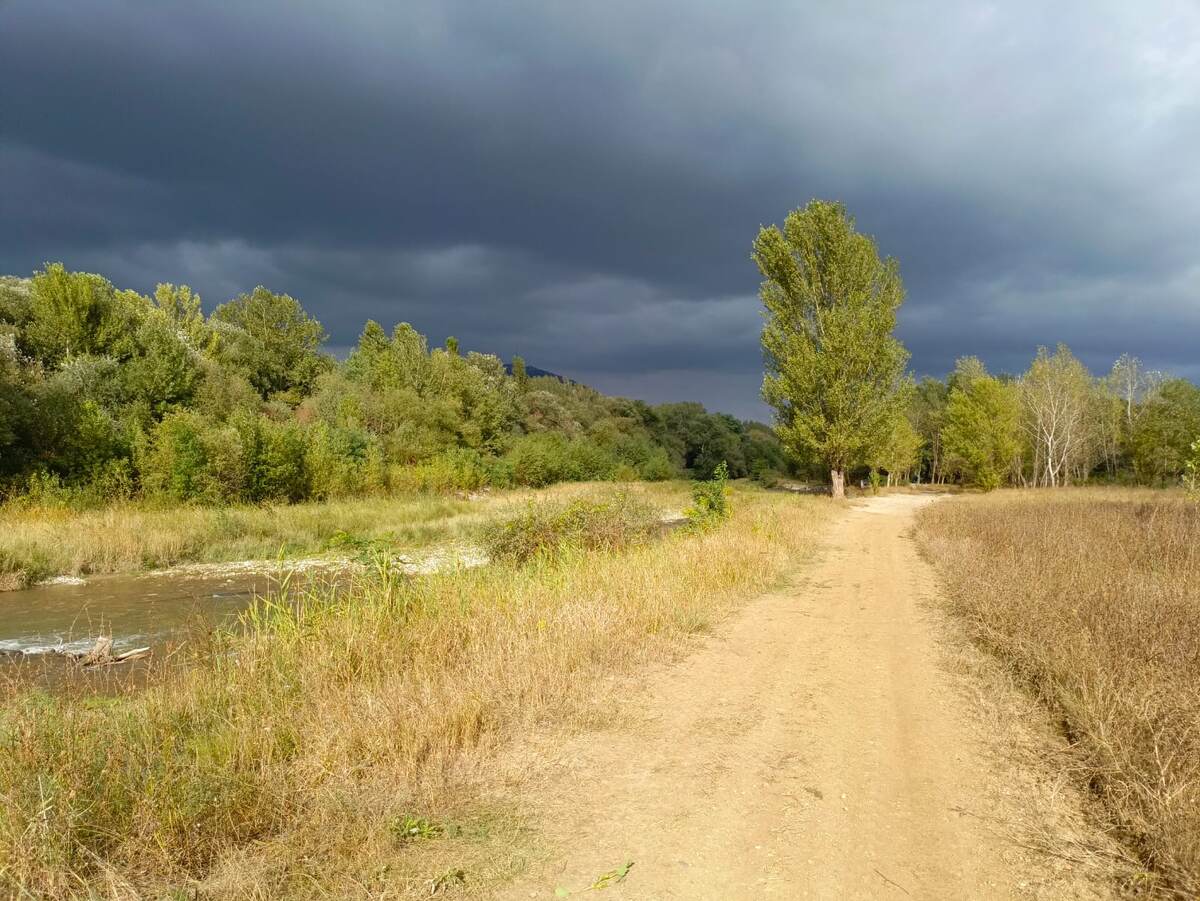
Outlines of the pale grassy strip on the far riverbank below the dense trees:
[{"label": "pale grassy strip on the far riverbank below the dense trees", "polygon": [[[638,483],[632,491],[679,509],[684,482]],[[420,549],[470,539],[496,516],[530,498],[570,497],[587,485],[511,491],[474,499],[407,494],[283,506],[103,510],[0,507],[0,587],[22,588],[60,575],[136,572],[184,563],[301,557],[330,549],[338,533]]]}]

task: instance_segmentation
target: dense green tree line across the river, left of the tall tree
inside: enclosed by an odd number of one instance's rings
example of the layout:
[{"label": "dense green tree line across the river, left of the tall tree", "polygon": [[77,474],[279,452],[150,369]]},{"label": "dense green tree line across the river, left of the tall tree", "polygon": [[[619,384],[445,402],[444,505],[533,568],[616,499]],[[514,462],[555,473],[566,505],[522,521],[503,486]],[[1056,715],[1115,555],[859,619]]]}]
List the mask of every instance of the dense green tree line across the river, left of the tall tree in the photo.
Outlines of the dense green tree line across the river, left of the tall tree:
[{"label": "dense green tree line across the river, left of the tall tree", "polygon": [[186,286],[0,278],[0,492],[254,503],[787,467],[761,424],[509,372],[404,323],[367,323],[342,362],[324,341],[262,287],[205,316]]}]

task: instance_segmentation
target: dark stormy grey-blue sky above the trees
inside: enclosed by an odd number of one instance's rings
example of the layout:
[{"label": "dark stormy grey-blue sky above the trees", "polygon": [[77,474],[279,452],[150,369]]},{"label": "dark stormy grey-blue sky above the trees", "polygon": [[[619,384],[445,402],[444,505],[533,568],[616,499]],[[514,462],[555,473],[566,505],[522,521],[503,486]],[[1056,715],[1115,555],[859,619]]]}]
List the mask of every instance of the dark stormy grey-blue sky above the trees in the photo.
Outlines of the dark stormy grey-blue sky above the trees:
[{"label": "dark stormy grey-blue sky above the trees", "polygon": [[1198,145],[1190,1],[0,1],[0,270],[744,415],[750,241],[812,197],[899,258],[918,372],[1200,376]]}]

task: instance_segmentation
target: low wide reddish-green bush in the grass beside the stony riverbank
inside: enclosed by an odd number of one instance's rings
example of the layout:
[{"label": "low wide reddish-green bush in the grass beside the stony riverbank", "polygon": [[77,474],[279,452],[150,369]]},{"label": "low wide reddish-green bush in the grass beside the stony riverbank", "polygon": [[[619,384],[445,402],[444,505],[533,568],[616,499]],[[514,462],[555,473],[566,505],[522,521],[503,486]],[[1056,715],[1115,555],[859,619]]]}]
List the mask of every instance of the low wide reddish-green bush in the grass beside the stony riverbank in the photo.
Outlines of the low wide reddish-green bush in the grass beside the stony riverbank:
[{"label": "low wide reddish-green bush in the grass beside the stony riverbank", "polygon": [[658,511],[619,492],[610,500],[528,504],[517,516],[485,527],[493,560],[524,563],[564,547],[616,551],[641,543],[659,528]]}]

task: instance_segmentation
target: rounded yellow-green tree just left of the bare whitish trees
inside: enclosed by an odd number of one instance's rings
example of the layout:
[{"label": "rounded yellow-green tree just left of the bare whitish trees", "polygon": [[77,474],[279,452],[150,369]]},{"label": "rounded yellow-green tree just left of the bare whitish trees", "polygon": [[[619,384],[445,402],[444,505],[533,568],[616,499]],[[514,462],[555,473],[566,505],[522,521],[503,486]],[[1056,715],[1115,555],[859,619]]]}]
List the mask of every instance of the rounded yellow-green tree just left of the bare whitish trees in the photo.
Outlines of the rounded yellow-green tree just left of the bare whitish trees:
[{"label": "rounded yellow-green tree just left of the bare whitish trees", "polygon": [[966,482],[998,488],[1020,451],[1018,390],[989,376],[974,358],[959,360],[950,384],[942,426],[946,463]]}]

